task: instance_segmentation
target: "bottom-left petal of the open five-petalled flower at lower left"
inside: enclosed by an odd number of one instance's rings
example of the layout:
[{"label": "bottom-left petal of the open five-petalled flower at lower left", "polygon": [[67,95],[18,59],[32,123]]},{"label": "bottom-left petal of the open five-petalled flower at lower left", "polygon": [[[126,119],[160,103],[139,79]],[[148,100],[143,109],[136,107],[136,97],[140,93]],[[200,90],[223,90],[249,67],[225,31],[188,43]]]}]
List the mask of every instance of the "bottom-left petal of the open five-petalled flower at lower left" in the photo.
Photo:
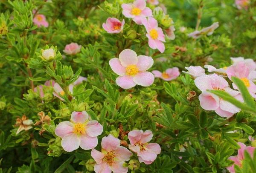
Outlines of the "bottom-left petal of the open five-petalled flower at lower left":
[{"label": "bottom-left petal of the open five-petalled flower at lower left", "polygon": [[61,146],[67,152],[71,152],[78,149],[79,144],[80,144],[80,139],[74,133],[67,134],[61,140]]}]

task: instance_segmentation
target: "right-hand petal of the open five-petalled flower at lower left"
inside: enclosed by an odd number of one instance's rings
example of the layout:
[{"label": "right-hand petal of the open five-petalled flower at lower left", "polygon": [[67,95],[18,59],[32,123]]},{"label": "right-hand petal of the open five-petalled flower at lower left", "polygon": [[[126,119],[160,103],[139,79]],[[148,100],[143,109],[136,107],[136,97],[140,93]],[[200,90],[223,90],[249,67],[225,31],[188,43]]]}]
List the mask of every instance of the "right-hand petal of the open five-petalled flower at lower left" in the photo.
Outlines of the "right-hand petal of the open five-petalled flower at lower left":
[{"label": "right-hand petal of the open five-petalled flower at lower left", "polygon": [[86,124],[86,133],[90,137],[96,137],[101,135],[103,132],[103,126],[98,123],[98,121],[89,121]]}]

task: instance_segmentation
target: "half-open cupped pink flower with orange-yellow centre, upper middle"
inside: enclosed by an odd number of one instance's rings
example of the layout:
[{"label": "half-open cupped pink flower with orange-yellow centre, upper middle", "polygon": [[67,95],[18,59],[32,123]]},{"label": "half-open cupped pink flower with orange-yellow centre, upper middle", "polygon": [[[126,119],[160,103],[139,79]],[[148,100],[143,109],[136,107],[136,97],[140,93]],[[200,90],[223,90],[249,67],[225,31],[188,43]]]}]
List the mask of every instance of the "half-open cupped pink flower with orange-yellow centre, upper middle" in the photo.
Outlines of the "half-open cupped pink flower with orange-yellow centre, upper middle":
[{"label": "half-open cupped pink flower with orange-yellow centre, upper middle", "polygon": [[125,20],[123,19],[122,22],[114,17],[108,17],[106,23],[102,24],[102,27],[105,29],[106,32],[110,34],[117,34],[122,32],[124,28]]}]

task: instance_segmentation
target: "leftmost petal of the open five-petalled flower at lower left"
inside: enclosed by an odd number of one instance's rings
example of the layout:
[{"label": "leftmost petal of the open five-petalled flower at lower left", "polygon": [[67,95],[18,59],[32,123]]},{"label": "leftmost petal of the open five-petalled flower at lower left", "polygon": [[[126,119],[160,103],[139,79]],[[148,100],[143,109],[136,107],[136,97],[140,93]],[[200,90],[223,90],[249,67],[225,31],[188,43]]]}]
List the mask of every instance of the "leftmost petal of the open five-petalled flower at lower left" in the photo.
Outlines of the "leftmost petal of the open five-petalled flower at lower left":
[{"label": "leftmost petal of the open five-petalled flower at lower left", "polygon": [[61,138],[67,134],[73,133],[73,124],[70,121],[62,121],[55,128],[55,134]]}]

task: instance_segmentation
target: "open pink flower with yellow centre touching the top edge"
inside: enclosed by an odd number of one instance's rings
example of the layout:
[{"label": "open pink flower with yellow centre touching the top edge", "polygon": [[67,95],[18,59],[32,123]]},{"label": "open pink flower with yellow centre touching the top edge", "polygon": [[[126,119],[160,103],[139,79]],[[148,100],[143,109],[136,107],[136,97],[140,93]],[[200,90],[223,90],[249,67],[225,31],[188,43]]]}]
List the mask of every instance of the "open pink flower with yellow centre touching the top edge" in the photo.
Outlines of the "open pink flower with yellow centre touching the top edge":
[{"label": "open pink flower with yellow centre touching the top edge", "polygon": [[145,0],[135,0],[134,3],[123,3],[122,14],[125,17],[132,18],[138,25],[142,24],[142,20],[146,17],[152,16],[152,10],[146,7]]}]

